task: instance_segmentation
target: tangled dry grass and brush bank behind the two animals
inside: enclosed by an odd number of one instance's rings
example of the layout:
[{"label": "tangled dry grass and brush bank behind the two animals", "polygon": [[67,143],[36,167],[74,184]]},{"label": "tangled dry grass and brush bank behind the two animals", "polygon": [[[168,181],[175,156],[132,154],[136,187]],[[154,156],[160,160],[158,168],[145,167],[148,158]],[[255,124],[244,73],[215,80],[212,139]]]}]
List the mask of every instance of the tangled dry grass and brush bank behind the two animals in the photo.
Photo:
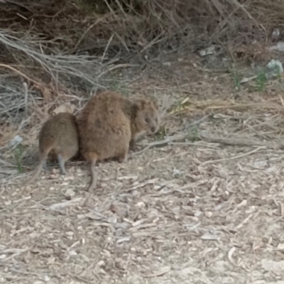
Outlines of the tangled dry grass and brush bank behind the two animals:
[{"label": "tangled dry grass and brush bank behind the two animals", "polygon": [[[233,58],[237,53],[269,58],[265,46],[271,28],[282,21],[280,0],[269,7],[265,1],[226,0],[3,3],[3,119],[18,117],[23,108],[28,112],[27,104],[40,104],[40,97],[43,103],[66,94],[87,97],[94,89],[114,87],[114,78],[129,84],[141,69],[155,68],[155,61],[163,63],[165,54],[192,53],[211,43],[219,46],[218,56],[226,51]],[[260,47],[251,45],[255,41]],[[135,72],[130,67],[136,67]],[[11,75],[12,91],[5,87]],[[24,101],[23,82],[28,84]]]}]

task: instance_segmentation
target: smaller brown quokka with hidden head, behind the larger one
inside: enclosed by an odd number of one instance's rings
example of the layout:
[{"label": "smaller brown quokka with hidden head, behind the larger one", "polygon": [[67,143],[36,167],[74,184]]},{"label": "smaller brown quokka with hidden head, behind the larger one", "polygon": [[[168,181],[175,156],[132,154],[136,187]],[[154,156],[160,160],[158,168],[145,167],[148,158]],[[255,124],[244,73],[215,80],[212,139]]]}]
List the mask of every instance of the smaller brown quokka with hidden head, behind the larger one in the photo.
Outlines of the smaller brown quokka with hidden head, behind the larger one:
[{"label": "smaller brown quokka with hidden head, behind the larger one", "polygon": [[38,140],[40,162],[35,173],[26,181],[25,187],[38,177],[42,168],[46,168],[47,158],[57,157],[60,173],[65,175],[65,162],[74,157],[79,150],[75,116],[67,112],[54,115],[43,124]]}]

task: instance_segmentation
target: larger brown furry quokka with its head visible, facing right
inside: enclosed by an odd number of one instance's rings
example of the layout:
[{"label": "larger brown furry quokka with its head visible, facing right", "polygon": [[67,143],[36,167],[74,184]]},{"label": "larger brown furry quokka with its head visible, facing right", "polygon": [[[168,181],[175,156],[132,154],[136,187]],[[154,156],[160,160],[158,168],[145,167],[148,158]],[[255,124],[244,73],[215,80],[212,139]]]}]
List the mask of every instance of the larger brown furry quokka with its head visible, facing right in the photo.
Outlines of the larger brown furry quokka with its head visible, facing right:
[{"label": "larger brown furry quokka with its head visible, facing right", "polygon": [[100,92],[89,99],[77,119],[80,151],[91,165],[89,192],[97,185],[96,162],[115,157],[124,162],[129,143],[135,143],[142,133],[156,131],[157,115],[153,102],[131,102],[117,92]]}]

